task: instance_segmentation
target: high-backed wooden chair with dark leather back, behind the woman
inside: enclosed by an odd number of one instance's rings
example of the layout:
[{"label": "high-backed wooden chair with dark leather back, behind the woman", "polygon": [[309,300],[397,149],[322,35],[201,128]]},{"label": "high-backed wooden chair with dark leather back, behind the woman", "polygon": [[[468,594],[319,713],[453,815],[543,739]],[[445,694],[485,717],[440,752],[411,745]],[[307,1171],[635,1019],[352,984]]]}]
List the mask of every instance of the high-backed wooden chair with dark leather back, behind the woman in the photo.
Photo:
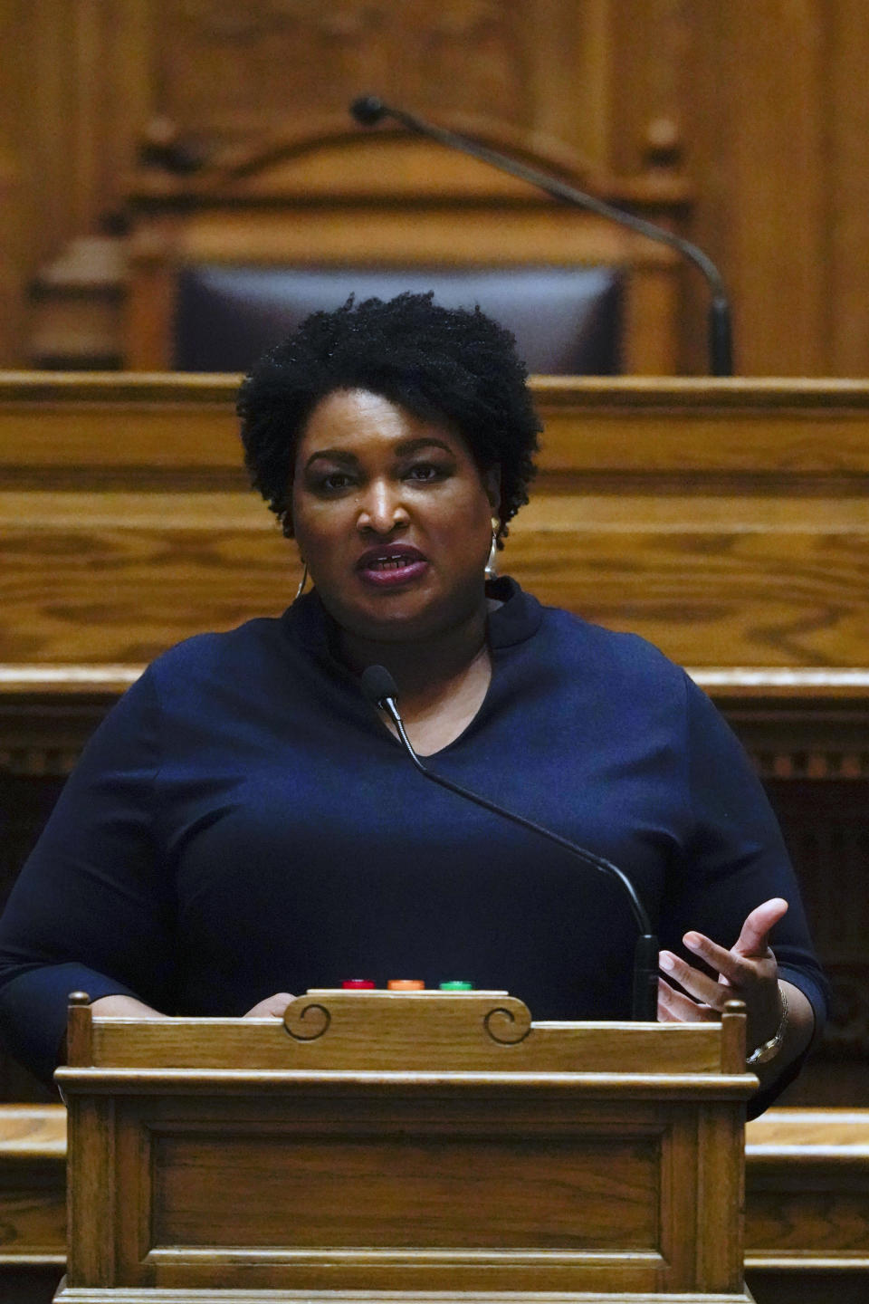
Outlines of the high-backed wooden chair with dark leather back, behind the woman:
[{"label": "high-backed wooden chair with dark leather back, behind the woman", "polygon": [[[476,126],[646,216],[672,226],[684,209],[677,179],[607,181],[551,143]],[[670,249],[397,130],[327,124],[193,177],[143,171],[129,205],[134,370],[240,370],[315,308],[403,289],[479,303],[535,372],[676,370]]]}]

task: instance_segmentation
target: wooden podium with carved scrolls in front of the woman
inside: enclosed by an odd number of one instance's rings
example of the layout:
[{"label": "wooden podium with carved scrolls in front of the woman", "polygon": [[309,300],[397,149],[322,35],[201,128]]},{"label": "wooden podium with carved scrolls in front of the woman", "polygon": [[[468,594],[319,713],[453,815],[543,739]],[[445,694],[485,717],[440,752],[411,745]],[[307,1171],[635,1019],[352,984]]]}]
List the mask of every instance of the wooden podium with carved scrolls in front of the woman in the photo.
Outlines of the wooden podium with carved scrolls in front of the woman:
[{"label": "wooden podium with carved scrolls in front of the woman", "polygon": [[532,1022],[506,992],[280,1020],[70,998],[57,1304],[750,1300],[743,1007]]}]

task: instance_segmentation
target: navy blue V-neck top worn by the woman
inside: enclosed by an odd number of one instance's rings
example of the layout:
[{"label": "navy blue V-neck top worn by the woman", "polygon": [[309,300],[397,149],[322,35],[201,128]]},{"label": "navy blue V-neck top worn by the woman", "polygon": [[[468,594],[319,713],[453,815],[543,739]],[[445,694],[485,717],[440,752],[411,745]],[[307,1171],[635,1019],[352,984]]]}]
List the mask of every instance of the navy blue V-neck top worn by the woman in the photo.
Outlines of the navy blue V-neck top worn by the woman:
[{"label": "navy blue V-neck top worn by the woman", "polygon": [[[642,639],[498,584],[489,692],[431,768],[619,865],[670,949],[687,928],[731,945],[786,897],[773,944],[821,1022],[779,829],[711,703]],[[96,730],[0,921],[0,1021],[38,1073],[76,988],[242,1015],[343,978],[464,978],[538,1020],[629,1016],[618,885],[418,775],[331,638],[310,593],[189,639]]]}]

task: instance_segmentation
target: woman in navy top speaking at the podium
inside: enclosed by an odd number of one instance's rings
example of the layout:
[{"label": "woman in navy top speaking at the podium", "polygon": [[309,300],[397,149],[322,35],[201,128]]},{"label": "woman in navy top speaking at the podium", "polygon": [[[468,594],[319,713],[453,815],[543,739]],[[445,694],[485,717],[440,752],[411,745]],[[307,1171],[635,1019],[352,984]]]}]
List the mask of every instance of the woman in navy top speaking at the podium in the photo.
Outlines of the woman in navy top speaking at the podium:
[{"label": "woman in navy top speaking at the podium", "polygon": [[486,583],[539,429],[512,338],[431,296],[350,301],[254,368],[240,415],[314,589],[171,649],[98,730],[0,926],[14,1052],[51,1072],[73,988],[266,1015],[357,974],[465,978],[537,1018],[627,1015],[621,893],[418,776],[360,691],[382,664],[444,776],[632,878],[661,1018],[745,1000],[766,1103],[823,983],[745,758],[649,644]]}]

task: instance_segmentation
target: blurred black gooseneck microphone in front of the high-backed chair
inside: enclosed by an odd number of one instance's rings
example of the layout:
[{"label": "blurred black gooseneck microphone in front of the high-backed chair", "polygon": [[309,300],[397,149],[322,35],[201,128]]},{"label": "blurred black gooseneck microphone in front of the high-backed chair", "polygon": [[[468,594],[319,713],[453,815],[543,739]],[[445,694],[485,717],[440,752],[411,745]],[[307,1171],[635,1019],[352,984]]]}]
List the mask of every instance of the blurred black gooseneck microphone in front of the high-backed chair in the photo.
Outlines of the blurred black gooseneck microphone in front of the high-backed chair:
[{"label": "blurred black gooseneck microphone in front of the high-backed chair", "polygon": [[636,218],[632,213],[616,209],[615,205],[607,203],[605,200],[598,200],[594,194],[588,194],[585,190],[577,190],[576,186],[567,185],[564,181],[556,180],[556,177],[547,176],[546,172],[539,172],[537,168],[526,167],[524,163],[520,163],[519,159],[512,159],[509,155],[502,154],[499,150],[491,150],[487,145],[481,145],[478,141],[473,141],[468,136],[460,136],[457,132],[448,132],[443,126],[435,126],[433,123],[426,123],[422,117],[417,117],[416,113],[408,113],[403,108],[393,108],[391,104],[384,104],[377,95],[360,95],[358,99],[354,99],[350,104],[350,113],[361,126],[375,126],[377,123],[382,121],[384,117],[392,117],[396,123],[401,123],[403,126],[416,132],[418,136],[427,136],[429,140],[436,141],[439,145],[444,145],[449,150],[460,150],[463,154],[470,154],[472,158],[479,159],[481,163],[489,163],[491,167],[496,167],[502,172],[509,172],[511,176],[517,176],[520,180],[538,186],[538,189],[545,190],[546,194],[551,194],[556,200],[565,200],[568,203],[576,203],[581,209],[597,213],[599,218],[607,218],[610,222],[618,222],[620,226],[628,227],[631,231],[636,231],[641,236],[648,236],[649,240],[657,240],[659,244],[666,244],[671,249],[675,249],[683,256],[683,258],[688,258],[688,261],[693,262],[696,267],[700,267],[711,291],[713,297],[709,305],[710,374],[734,374],[731,310],[727,291],[724,289],[724,282],[722,280],[720,273],[709,254],[705,254],[704,250],[696,244],[692,244],[691,240],[683,240],[681,236],[674,235],[672,231],[667,231],[664,227],[655,226],[654,222],[646,222],[645,218]]}]

